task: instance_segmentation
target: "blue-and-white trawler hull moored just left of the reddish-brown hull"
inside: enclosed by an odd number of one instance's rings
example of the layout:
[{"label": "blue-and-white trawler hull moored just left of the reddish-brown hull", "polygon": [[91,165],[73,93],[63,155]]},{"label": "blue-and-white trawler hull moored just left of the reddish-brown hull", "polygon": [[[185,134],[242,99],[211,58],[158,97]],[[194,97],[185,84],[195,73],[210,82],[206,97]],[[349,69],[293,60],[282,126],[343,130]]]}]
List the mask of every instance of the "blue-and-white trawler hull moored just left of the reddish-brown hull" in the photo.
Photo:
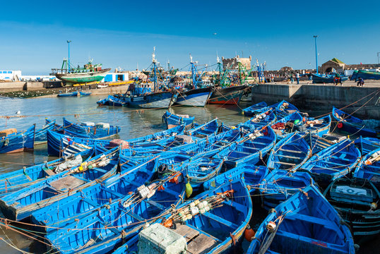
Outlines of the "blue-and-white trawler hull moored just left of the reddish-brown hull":
[{"label": "blue-and-white trawler hull moored just left of the reddish-brown hull", "polygon": [[201,87],[187,91],[180,91],[174,104],[192,107],[205,107],[213,93],[212,87]]}]

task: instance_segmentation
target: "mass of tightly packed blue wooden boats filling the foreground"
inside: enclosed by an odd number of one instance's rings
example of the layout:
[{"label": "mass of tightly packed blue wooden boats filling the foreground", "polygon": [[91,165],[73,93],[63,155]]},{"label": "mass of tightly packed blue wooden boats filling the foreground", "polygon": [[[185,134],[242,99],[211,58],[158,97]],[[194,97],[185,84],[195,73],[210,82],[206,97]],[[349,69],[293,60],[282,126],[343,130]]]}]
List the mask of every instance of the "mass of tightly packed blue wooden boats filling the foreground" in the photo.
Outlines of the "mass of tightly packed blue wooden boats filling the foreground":
[{"label": "mass of tightly packed blue wooden boats filling the foreground", "polygon": [[59,159],[0,175],[1,224],[31,223],[54,253],[223,253],[243,236],[248,253],[355,253],[380,234],[380,140],[285,101],[246,111],[236,126],[166,112],[167,130],[131,140],[47,120]]}]

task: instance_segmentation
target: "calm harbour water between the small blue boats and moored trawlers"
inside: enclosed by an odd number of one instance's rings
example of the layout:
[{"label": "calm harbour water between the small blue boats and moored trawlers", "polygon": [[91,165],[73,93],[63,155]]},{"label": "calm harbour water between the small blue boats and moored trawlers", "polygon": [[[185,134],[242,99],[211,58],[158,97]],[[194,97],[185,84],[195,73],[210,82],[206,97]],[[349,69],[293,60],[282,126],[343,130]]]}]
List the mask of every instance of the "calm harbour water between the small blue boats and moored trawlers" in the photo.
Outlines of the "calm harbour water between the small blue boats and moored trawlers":
[{"label": "calm harbour water between the small blue boats and moored trawlers", "polygon": [[[57,123],[61,124],[62,117],[66,117],[69,121],[106,122],[111,125],[120,126],[121,132],[114,138],[121,138],[123,140],[156,133],[165,129],[165,124],[162,123],[162,114],[164,114],[167,109],[98,107],[96,104],[97,100],[103,99],[104,97],[105,95],[93,95],[88,97],[41,97],[37,99],[1,98],[0,116],[11,117],[2,117],[0,119],[0,130],[4,128],[17,128],[18,131],[23,131],[33,123],[36,123],[36,129],[38,129],[44,125],[46,118],[57,119]],[[246,105],[242,103],[239,106],[207,105],[204,108],[172,107],[170,111],[174,114],[195,116],[198,123],[204,123],[218,117],[223,123],[234,126],[237,123],[248,120],[247,117],[241,114],[241,109],[246,106],[249,106],[249,104]],[[20,111],[20,114],[16,114],[17,111]],[[313,113],[309,112],[309,115],[312,116]],[[57,158],[47,156],[47,145],[37,145],[34,152],[1,154],[0,174],[52,159]],[[266,214],[254,214],[252,217],[256,216],[256,219],[252,219],[252,226],[261,223],[261,220],[257,219],[259,215],[266,216]],[[29,230],[30,235],[35,234],[32,228],[25,228],[25,225],[19,226]],[[5,229],[3,226],[0,226],[0,238],[14,245],[11,247],[4,241],[0,241],[0,253],[20,253],[20,250],[30,253],[45,253],[47,251],[43,243],[18,234],[11,229]],[[379,243],[379,240],[378,237],[368,246],[361,246],[360,253],[376,253],[374,248],[376,248],[376,243]],[[247,243],[245,243],[245,245],[247,245]],[[20,250],[17,250],[17,248]],[[243,250],[237,250],[238,253],[242,251]]]}]

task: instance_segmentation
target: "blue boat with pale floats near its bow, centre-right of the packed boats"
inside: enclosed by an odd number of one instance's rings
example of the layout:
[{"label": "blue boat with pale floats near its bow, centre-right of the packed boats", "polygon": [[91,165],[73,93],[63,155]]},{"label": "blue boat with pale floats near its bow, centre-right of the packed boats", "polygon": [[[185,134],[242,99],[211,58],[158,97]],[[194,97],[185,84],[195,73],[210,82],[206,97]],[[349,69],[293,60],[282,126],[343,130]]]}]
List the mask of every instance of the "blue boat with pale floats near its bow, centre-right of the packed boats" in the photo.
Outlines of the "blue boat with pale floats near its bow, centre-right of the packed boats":
[{"label": "blue boat with pale floats near its bow, centre-right of the packed boats", "polygon": [[257,164],[271,151],[276,140],[271,127],[261,128],[218,152],[215,157],[224,159],[227,169],[244,163]]}]

